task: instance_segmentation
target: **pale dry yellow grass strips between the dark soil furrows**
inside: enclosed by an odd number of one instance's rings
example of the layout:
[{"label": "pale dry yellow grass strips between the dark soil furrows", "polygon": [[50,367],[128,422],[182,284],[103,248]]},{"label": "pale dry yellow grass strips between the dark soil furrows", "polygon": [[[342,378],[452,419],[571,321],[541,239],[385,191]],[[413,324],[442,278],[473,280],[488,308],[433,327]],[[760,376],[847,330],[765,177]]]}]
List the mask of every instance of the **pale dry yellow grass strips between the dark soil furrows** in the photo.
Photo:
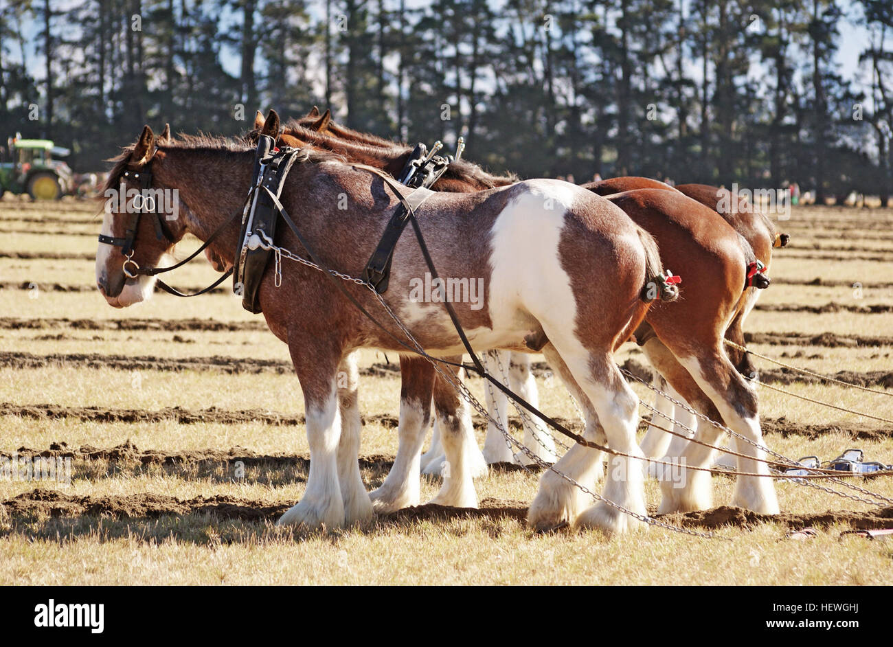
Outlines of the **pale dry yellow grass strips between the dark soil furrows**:
[{"label": "pale dry yellow grass strips between the dark soil furrows", "polygon": [[[32,226],[17,222],[20,218],[43,214],[83,220],[95,213],[93,204],[69,201],[56,207],[51,213],[25,202],[2,203],[0,230],[29,228],[35,232],[4,234],[4,250],[94,252],[96,245],[88,236],[37,233],[81,232],[88,231],[89,226],[65,223]],[[822,229],[822,222],[840,221],[867,230],[883,224],[881,219],[893,219],[893,210],[868,213],[871,217],[860,210],[801,209],[795,210],[793,218],[783,225],[797,233],[797,240],[807,241],[811,234],[837,230]],[[819,226],[812,225],[812,220],[819,222]],[[832,246],[860,244],[847,242],[846,235],[839,243],[814,242]],[[889,242],[877,245],[865,242],[866,250],[885,245],[893,247]],[[777,253],[772,276],[797,280],[825,277],[865,283],[893,280],[889,278],[893,276],[890,272],[893,262],[831,263],[793,258],[797,255],[800,253],[791,253],[790,257],[786,257],[785,251]],[[177,285],[198,286],[213,277],[213,272],[197,265],[178,272],[177,276]],[[0,280],[91,285],[93,268],[88,261],[0,259]],[[857,302],[847,288],[776,285],[764,293],[761,303],[822,305],[829,302],[893,303],[893,289],[877,290],[876,294],[866,290],[864,299]],[[33,298],[29,291],[10,289],[0,291],[0,311],[4,316],[25,319],[260,320],[243,311],[238,300],[229,294],[213,294],[185,302],[156,294],[149,303],[114,311],[95,292],[39,292]],[[893,336],[893,314],[755,311],[747,329]],[[767,344],[757,344],[755,350],[821,372],[887,370],[889,353],[893,352],[889,346],[828,348]],[[114,353],[158,358],[225,355],[288,360],[286,346],[265,331],[0,329],[0,352]],[[618,360],[628,357],[644,363],[634,347],[624,348]],[[396,361],[396,357],[388,359]],[[381,353],[361,354],[362,367],[383,361]],[[761,361],[756,364],[761,369],[770,368]],[[543,377],[538,378],[538,386],[545,411],[569,419],[576,417],[562,387]],[[480,380],[472,380],[471,387],[473,393],[483,398]],[[644,386],[633,387],[640,397],[651,402],[651,394]],[[786,388],[893,419],[893,399],[889,397],[839,386],[797,383]],[[360,406],[367,417],[363,455],[393,456],[396,452],[396,431],[382,424],[375,414],[396,416],[399,389],[396,374],[363,377]],[[77,365],[38,369],[7,366],[0,368],[0,402],[148,411],[171,406],[190,410],[218,407],[277,411],[298,417],[303,412],[296,378],[269,371],[226,375],[219,371],[143,370],[134,374],[128,370],[83,369]],[[832,421],[839,422],[843,428],[861,423],[867,427],[891,427],[766,390],[761,391],[761,410],[765,417],[785,417],[800,424]],[[22,446],[41,450],[60,441],[70,447],[102,448],[130,441],[140,450],[164,452],[244,447],[252,452],[282,454],[295,459],[308,455],[301,425],[179,424],[171,419],[154,423],[108,423],[14,415],[4,416],[3,425],[0,451],[4,452]],[[482,442],[484,429],[480,425],[477,433]],[[794,459],[807,454],[830,459],[849,446],[858,446],[869,459],[893,462],[891,438],[854,441],[836,432],[815,439],[803,435],[769,435],[766,442]],[[70,485],[0,480],[0,500],[27,494],[38,485],[57,487],[63,494],[79,496],[158,494],[188,500],[217,495],[267,505],[288,504],[303,495],[306,471],[299,461],[251,466],[244,482],[233,480],[232,469],[226,462],[144,465],[76,460]],[[363,469],[364,481],[370,488],[380,485],[384,476],[383,467]],[[438,485],[437,479],[424,479],[422,498],[435,494]],[[481,498],[529,502],[536,492],[537,478],[524,472],[493,472],[479,479],[476,485]],[[893,480],[875,479],[863,485],[893,498]],[[732,481],[714,477],[714,486],[715,504],[729,502]],[[778,491],[782,509],[794,513],[868,510],[863,503],[845,501],[796,484],[780,484]],[[659,500],[654,479],[647,482],[647,499],[652,505]],[[784,540],[787,527],[778,523],[722,528],[718,534],[730,538],[730,542],[676,535],[657,528],[644,534],[607,539],[597,532],[534,535],[514,518],[486,516],[436,520],[379,518],[363,527],[308,534],[274,527],[269,519],[221,519],[206,513],[160,518],[118,519],[93,515],[55,518],[39,514],[11,515],[0,507],[0,584],[886,584],[893,547],[889,542],[839,539],[839,532],[846,528],[823,528],[817,537],[804,542]]]}]

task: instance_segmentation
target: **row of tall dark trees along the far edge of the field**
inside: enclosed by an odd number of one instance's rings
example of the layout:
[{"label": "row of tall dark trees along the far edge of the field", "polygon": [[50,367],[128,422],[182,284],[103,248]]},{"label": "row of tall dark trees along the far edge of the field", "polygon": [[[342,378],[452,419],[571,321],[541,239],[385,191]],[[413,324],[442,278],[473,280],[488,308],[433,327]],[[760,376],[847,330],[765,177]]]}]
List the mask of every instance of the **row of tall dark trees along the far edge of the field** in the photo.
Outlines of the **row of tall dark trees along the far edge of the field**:
[{"label": "row of tall dark trees along the far edge of the field", "polygon": [[7,0],[0,80],[0,135],[76,170],[146,121],[231,135],[318,104],[522,177],[893,184],[889,0]]}]

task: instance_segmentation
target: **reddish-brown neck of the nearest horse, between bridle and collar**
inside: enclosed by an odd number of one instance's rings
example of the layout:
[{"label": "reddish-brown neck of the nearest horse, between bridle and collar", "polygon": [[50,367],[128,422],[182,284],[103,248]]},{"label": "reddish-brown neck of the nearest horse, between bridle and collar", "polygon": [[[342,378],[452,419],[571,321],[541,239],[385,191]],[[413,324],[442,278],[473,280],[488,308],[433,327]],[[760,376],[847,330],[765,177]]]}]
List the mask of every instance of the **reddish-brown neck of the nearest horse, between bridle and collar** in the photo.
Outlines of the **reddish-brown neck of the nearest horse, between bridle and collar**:
[{"label": "reddish-brown neck of the nearest horse, between bridle and collar", "polygon": [[[177,190],[188,232],[204,242],[242,211],[254,157],[253,151],[170,148],[161,163],[155,162],[154,174],[163,187]],[[240,223],[238,217],[230,220],[212,245],[226,261],[235,258]]]}]

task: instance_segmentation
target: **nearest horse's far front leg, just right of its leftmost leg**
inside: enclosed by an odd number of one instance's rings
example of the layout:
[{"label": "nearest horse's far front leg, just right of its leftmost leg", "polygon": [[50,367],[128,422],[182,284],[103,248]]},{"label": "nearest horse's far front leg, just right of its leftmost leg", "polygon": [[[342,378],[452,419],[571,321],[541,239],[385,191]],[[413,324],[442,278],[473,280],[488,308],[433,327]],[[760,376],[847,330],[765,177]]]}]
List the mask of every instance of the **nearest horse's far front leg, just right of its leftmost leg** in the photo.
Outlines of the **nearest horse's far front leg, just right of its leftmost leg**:
[{"label": "nearest horse's far front leg, just right of its leftmost leg", "polygon": [[347,524],[371,518],[372,504],[357,456],[360,452],[360,435],[363,419],[360,417],[358,391],[360,371],[356,367],[355,353],[347,355],[338,366],[338,411],[341,414],[341,437],[338,440],[338,483]]}]

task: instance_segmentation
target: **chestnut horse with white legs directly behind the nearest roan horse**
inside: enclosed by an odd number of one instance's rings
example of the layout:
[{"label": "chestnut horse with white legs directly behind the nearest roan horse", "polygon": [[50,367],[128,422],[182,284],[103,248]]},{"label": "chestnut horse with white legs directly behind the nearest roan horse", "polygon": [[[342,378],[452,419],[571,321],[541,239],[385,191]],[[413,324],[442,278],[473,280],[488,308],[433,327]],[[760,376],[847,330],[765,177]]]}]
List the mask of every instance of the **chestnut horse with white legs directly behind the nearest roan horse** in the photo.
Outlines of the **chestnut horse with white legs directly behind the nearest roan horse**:
[{"label": "chestnut horse with white legs directly behind the nearest roan horse", "polygon": [[[278,123],[272,132],[279,132]],[[406,146],[388,146],[381,144],[381,140],[375,146],[359,144],[356,140],[333,140],[296,124],[289,124],[282,140],[290,145],[312,143],[338,150],[395,174],[402,169],[409,154]],[[461,182],[462,174],[458,168],[451,170],[455,171],[451,181]],[[471,189],[474,185],[475,181],[469,180],[467,186]],[[705,294],[699,290],[697,299],[683,300],[681,307],[653,308],[647,316],[647,324],[637,331],[637,336],[647,337],[643,350],[680,399],[689,401],[697,411],[711,419],[724,422],[751,442],[762,443],[755,394],[730,363],[722,341],[730,322],[745,307],[745,272],[748,263],[755,261],[750,245],[717,212],[662,182],[649,178],[613,178],[584,187],[594,193],[604,191],[606,194],[619,189],[652,187],[627,191],[609,199],[655,236],[667,267],[679,267],[678,271],[690,276],[695,285],[699,288],[706,286],[706,289]],[[655,335],[649,334],[651,330]],[[544,353],[554,369],[570,378],[548,347],[544,348]],[[585,408],[580,389],[571,385],[571,390]],[[591,410],[587,410],[587,418],[588,428],[597,427]],[[715,427],[706,427],[698,433],[699,438],[715,444],[721,435]],[[735,444],[740,453],[752,457],[739,459],[741,471],[768,474],[762,450],[747,441],[736,440]],[[567,469],[572,477],[588,482],[599,475],[601,458],[595,454],[597,452],[576,445],[558,465]],[[681,458],[696,467],[708,467],[714,454],[698,444],[683,445],[680,449]],[[404,464],[404,461],[399,462]],[[400,482],[406,477],[402,473]],[[687,477],[683,487],[670,481],[663,483],[662,511],[702,510],[710,506],[711,488],[706,473],[692,470]],[[543,476],[541,483],[538,498],[531,506],[531,523],[548,527],[563,521],[573,522],[585,504],[580,492],[550,472]],[[551,498],[550,491],[553,493]],[[733,502],[764,513],[778,511],[774,488],[765,477],[739,477]]]}]

